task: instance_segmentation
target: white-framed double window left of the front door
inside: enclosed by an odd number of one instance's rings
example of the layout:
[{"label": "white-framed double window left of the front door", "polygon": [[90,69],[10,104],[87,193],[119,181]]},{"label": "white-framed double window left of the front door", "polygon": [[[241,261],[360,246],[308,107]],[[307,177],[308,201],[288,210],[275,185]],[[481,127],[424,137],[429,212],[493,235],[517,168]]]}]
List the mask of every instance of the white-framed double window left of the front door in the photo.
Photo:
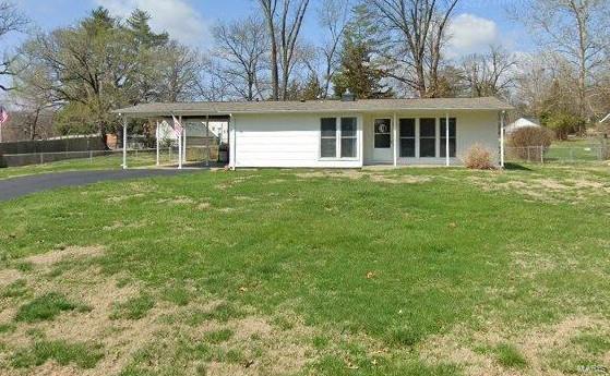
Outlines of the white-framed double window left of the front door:
[{"label": "white-framed double window left of the front door", "polygon": [[320,120],[321,158],[358,157],[358,119],[322,118]]}]

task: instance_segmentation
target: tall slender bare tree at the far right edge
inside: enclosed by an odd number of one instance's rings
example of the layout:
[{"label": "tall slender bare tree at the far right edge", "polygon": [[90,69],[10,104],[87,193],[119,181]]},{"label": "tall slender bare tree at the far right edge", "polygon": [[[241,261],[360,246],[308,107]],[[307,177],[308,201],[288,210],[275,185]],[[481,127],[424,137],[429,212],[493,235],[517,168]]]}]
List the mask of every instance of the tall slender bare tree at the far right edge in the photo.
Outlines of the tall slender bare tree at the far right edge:
[{"label": "tall slender bare tree at the far right edge", "polygon": [[[526,9],[525,16],[523,9]],[[517,13],[513,11],[515,17]],[[608,0],[524,0],[518,20],[533,31],[543,49],[561,54],[577,72],[578,114],[588,113],[587,92],[610,46]]]}]

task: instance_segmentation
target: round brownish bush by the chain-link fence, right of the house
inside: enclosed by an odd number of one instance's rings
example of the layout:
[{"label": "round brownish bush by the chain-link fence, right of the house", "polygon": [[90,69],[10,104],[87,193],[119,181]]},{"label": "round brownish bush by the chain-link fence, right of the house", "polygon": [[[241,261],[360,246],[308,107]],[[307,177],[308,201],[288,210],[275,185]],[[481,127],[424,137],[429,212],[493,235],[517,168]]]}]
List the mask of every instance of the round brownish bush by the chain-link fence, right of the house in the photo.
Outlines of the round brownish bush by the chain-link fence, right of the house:
[{"label": "round brownish bush by the chain-link fence, right of the house", "polygon": [[552,142],[553,132],[549,129],[522,128],[509,136],[509,155],[524,160],[540,160]]}]

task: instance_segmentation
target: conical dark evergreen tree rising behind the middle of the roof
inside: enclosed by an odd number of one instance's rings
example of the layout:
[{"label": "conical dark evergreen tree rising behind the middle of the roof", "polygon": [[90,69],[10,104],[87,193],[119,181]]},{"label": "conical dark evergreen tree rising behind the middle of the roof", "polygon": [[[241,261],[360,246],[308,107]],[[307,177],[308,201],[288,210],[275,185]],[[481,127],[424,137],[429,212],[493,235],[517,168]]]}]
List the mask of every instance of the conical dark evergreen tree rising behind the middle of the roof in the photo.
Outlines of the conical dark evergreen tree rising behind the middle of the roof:
[{"label": "conical dark evergreen tree rising behind the middle of the roof", "polygon": [[375,59],[380,52],[375,48],[381,45],[374,38],[376,26],[366,16],[363,5],[354,12],[354,21],[344,35],[340,66],[333,78],[335,95],[349,90],[360,99],[392,97],[392,89],[383,84],[385,73]]}]

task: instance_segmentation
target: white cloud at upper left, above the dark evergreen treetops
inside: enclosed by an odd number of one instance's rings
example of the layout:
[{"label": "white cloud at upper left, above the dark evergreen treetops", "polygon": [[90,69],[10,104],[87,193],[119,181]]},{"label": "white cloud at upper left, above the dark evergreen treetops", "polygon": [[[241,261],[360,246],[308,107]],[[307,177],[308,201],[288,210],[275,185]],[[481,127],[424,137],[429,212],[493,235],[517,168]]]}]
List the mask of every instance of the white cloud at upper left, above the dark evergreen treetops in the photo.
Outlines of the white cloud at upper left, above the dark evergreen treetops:
[{"label": "white cloud at upper left, above the dark evergreen treetops", "polygon": [[184,0],[95,0],[112,15],[128,17],[140,8],[151,14],[151,26],[157,33],[168,32],[170,37],[191,46],[202,46],[210,37],[203,16]]}]

